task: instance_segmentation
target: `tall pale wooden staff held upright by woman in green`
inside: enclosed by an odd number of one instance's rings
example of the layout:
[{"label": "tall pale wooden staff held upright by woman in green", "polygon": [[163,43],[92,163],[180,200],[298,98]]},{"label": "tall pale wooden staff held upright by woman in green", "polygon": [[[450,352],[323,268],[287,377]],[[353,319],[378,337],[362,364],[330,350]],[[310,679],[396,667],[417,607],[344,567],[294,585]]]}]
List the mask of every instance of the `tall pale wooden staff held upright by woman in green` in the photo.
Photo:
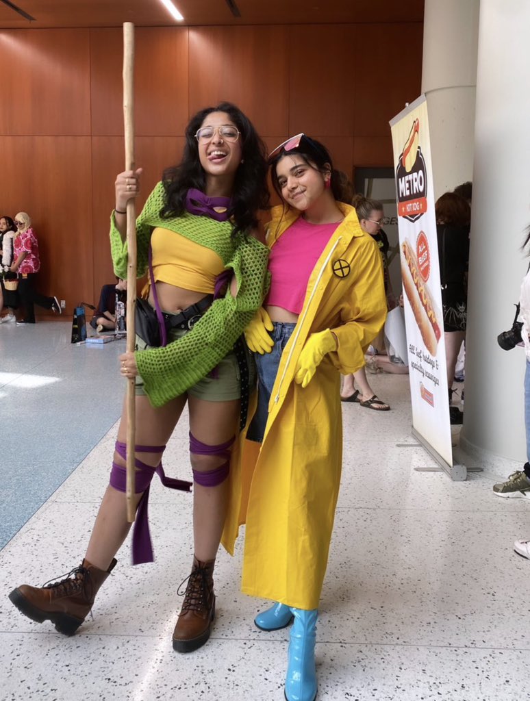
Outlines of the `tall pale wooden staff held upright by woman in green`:
[{"label": "tall pale wooden staff held upright by woman in green", "polygon": [[[123,23],[123,123],[125,127],[125,170],[135,170],[134,121],[135,25]],[[136,215],[135,200],[127,202],[127,351],[135,350],[136,307]],[[135,520],[135,379],[127,381],[127,520]]]}]

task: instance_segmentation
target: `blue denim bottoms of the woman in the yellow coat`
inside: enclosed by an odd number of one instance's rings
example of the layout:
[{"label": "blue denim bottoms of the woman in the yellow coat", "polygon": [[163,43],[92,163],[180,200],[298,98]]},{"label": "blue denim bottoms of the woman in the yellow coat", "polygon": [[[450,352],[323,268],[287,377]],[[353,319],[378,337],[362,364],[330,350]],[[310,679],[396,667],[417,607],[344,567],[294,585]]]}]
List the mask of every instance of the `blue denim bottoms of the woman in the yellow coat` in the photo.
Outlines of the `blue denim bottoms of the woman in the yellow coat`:
[{"label": "blue denim bottoms of the woman in the yellow coat", "polygon": [[273,322],[273,330],[271,338],[274,341],[274,346],[271,353],[254,353],[256,361],[256,369],[258,376],[258,402],[256,413],[247,431],[247,439],[261,443],[265,433],[267,418],[269,417],[269,401],[271,393],[280,366],[283,349],[287,346],[294,327],[296,324],[283,324]]}]

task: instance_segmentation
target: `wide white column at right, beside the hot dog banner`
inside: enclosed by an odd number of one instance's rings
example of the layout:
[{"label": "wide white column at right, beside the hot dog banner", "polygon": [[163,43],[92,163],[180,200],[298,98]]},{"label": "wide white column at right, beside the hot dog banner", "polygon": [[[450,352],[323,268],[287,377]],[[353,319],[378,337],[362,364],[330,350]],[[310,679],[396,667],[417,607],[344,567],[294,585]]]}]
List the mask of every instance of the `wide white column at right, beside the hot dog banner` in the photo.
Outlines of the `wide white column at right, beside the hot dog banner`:
[{"label": "wide white column at right, beside the hot dog banner", "polygon": [[526,461],[524,351],[502,351],[529,264],[530,2],[480,3],[468,290],[466,403],[461,447],[484,468]]}]

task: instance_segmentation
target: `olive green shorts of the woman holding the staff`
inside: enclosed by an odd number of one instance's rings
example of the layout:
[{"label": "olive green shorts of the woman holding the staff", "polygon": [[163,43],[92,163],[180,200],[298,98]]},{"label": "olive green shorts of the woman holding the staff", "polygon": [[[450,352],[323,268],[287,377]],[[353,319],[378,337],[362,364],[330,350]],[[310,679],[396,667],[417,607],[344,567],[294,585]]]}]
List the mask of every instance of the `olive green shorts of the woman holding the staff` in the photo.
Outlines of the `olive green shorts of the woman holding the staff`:
[{"label": "olive green shorts of the woman holding the staff", "polygon": [[[182,338],[187,333],[187,329],[170,329],[168,332],[168,343]],[[151,348],[151,346],[148,346],[140,336],[136,336],[136,350],[145,351],[147,348]],[[252,358],[249,358],[248,366],[249,384],[250,387],[253,387],[256,376]],[[147,392],[144,390],[144,381],[140,375],[137,375],[135,378],[135,394],[147,395]],[[186,394],[208,402],[229,402],[240,399],[240,372],[236,354],[231,352],[226,355],[210,374],[186,390]]]}]

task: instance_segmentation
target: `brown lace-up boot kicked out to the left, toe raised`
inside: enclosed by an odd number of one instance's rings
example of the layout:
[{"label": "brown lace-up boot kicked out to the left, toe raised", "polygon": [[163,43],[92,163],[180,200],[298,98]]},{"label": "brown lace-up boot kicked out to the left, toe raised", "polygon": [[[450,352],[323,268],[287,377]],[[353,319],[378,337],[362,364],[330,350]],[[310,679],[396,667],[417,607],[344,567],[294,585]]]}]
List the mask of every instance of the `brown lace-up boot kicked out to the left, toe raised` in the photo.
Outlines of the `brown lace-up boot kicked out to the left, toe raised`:
[{"label": "brown lace-up boot kicked out to the left, toe raised", "polygon": [[113,559],[109,569],[103,571],[83,560],[60,582],[43,587],[23,584],[13,589],[9,599],[27,618],[37,623],[50,620],[60,633],[73,635],[90,612],[95,595],[115,564]]}]

